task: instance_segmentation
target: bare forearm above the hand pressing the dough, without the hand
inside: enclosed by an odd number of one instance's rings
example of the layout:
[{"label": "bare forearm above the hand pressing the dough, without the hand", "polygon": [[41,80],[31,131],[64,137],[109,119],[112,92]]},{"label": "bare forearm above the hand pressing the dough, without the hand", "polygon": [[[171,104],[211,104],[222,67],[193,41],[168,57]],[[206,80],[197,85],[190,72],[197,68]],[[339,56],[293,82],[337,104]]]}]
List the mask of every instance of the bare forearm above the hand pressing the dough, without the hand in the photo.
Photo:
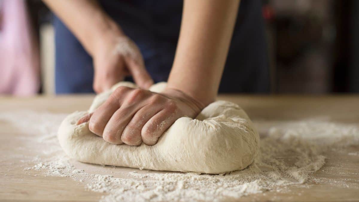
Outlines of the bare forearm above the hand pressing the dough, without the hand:
[{"label": "bare forearm above the hand pressing the dough, without the hand", "polygon": [[203,105],[215,100],[236,22],[239,0],[185,0],[168,88]]}]

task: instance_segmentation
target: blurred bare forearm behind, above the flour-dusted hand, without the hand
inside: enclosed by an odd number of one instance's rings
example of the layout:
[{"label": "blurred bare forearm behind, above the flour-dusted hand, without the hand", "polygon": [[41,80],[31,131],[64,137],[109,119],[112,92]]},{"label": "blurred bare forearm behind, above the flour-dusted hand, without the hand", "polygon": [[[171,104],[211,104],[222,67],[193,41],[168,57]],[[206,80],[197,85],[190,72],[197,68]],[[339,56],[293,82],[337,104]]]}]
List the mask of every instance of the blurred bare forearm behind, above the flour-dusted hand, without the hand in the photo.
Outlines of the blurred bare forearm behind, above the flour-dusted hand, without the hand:
[{"label": "blurred bare forearm behind, above the flour-dusted hand, without the hand", "polygon": [[85,50],[93,55],[99,38],[108,33],[122,35],[121,28],[96,0],[43,0],[66,24]]}]

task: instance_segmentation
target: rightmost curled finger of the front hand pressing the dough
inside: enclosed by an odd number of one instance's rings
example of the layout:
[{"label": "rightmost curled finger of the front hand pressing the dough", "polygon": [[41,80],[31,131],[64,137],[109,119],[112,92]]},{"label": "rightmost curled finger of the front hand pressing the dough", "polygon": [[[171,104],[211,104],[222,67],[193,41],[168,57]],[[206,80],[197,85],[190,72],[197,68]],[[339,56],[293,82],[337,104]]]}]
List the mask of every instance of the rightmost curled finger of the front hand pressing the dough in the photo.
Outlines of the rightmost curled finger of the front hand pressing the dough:
[{"label": "rightmost curled finger of the front hand pressing the dough", "polygon": [[155,114],[141,130],[142,141],[147,145],[154,145],[158,138],[176,121],[182,117],[177,113],[177,106],[166,106],[165,109]]}]

